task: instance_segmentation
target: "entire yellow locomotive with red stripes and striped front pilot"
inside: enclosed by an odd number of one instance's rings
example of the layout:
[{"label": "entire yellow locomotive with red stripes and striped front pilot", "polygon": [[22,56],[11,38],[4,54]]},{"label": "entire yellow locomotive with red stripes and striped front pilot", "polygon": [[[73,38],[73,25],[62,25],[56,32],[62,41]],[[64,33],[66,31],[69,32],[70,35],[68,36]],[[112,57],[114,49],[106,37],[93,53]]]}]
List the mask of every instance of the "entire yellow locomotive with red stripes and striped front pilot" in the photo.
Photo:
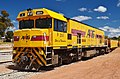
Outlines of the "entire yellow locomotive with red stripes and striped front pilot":
[{"label": "entire yellow locomotive with red stripes and striped front pilot", "polygon": [[107,52],[104,31],[41,8],[18,14],[13,62],[24,69],[61,65]]}]

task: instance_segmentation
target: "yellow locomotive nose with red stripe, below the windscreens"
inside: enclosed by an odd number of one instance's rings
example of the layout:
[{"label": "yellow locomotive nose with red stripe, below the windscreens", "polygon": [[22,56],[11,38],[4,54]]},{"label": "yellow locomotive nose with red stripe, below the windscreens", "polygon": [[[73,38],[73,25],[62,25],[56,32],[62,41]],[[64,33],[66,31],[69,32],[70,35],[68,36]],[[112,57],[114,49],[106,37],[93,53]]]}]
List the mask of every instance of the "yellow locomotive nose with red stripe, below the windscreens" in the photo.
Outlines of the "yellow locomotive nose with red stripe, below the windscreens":
[{"label": "yellow locomotive nose with red stripe, below the windscreens", "polygon": [[47,29],[23,29],[14,33],[15,47],[44,47],[48,41]]}]

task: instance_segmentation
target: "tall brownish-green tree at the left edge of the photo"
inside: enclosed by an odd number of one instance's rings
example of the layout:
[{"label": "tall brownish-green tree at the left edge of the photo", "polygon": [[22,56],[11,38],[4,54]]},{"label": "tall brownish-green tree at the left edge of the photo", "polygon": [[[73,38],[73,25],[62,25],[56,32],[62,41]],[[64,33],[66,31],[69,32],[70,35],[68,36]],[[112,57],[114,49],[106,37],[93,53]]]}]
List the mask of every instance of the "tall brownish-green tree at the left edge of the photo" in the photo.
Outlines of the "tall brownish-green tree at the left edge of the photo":
[{"label": "tall brownish-green tree at the left edge of the photo", "polygon": [[0,35],[4,36],[5,35],[5,30],[7,27],[13,27],[13,23],[11,22],[11,20],[8,18],[9,17],[9,13],[5,10],[1,11],[1,15],[0,15]]}]

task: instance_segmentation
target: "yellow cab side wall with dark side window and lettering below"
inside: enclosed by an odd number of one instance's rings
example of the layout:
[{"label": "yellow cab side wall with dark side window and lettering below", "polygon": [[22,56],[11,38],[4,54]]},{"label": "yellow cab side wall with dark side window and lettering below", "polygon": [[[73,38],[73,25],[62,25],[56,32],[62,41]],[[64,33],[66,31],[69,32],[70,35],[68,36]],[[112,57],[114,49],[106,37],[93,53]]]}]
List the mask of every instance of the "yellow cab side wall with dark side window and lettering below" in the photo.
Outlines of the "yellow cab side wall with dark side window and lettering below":
[{"label": "yellow cab side wall with dark side window and lettering below", "polygon": [[67,23],[54,19],[53,46],[67,46]]}]

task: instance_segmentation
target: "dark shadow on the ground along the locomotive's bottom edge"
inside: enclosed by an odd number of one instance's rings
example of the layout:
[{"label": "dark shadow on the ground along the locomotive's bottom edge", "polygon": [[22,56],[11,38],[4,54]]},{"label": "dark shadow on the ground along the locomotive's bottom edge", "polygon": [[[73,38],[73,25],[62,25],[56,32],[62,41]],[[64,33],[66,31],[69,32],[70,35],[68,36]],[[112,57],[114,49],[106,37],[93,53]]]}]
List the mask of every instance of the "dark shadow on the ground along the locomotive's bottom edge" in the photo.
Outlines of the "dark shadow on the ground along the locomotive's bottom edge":
[{"label": "dark shadow on the ground along the locomotive's bottom edge", "polygon": [[[111,49],[111,52],[114,51],[115,49],[116,48]],[[108,53],[105,53],[105,54],[108,54]],[[104,54],[99,54],[97,56],[101,56],[101,55],[104,55]],[[77,63],[77,62],[80,62],[80,61],[87,61],[87,60],[93,59],[94,57],[96,57],[96,55],[94,55],[92,57],[82,57],[81,60],[78,60],[78,61],[73,60],[69,63],[68,62],[63,62],[62,65],[43,66],[43,67],[40,67],[38,71],[40,71],[40,72],[51,71],[51,70],[54,70],[55,67],[65,66],[65,65],[69,65],[71,63]],[[11,69],[11,70],[17,70],[18,72],[38,72],[38,71],[36,71],[36,69],[33,69],[33,70],[21,69],[17,65],[8,65],[7,68]]]}]

